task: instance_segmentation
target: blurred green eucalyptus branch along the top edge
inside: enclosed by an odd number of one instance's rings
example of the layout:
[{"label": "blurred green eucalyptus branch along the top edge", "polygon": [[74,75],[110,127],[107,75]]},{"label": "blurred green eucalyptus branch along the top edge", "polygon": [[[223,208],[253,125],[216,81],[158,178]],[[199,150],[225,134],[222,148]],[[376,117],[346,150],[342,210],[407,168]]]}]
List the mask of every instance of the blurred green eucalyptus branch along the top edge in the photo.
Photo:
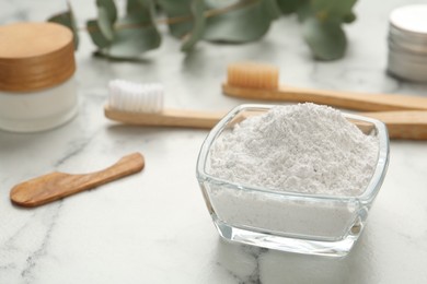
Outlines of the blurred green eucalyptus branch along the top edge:
[{"label": "blurred green eucalyptus branch along the top edge", "polygon": [[[165,17],[154,11],[154,1]],[[97,17],[85,27],[77,27],[72,9],[49,19],[85,31],[99,54],[114,58],[137,58],[161,44],[157,25],[166,24],[173,36],[183,40],[182,50],[191,50],[199,40],[247,43],[261,39],[278,16],[297,13],[302,35],[313,56],[334,60],[345,54],[347,39],[343,24],[356,16],[356,0],[241,0],[229,5],[208,8],[206,0],[127,0],[127,13],[117,17],[114,0],[95,0]]]}]

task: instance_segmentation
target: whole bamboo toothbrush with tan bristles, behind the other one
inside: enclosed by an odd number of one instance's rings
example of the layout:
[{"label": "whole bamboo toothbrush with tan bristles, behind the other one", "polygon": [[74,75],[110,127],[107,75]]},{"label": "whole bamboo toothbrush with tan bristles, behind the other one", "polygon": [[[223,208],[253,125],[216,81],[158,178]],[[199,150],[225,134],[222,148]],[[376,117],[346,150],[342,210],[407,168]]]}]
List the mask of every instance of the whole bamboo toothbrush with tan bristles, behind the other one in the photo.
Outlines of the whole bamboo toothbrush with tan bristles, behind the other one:
[{"label": "whole bamboo toothbrush with tan bristles, behind the other one", "polygon": [[279,70],[270,64],[238,62],[228,67],[222,92],[229,96],[328,105],[363,111],[427,110],[427,97],[363,94],[279,85]]}]

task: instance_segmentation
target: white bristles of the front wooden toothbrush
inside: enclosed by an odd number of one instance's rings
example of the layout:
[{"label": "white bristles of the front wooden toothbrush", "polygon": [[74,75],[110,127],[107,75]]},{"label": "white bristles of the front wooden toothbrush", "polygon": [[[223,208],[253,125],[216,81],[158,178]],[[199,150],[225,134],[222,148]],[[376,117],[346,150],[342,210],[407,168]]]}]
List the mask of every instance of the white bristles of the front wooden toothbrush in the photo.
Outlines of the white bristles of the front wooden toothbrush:
[{"label": "white bristles of the front wooden toothbrush", "polygon": [[109,81],[108,91],[111,108],[130,113],[160,113],[163,109],[162,84],[138,84],[116,79]]}]

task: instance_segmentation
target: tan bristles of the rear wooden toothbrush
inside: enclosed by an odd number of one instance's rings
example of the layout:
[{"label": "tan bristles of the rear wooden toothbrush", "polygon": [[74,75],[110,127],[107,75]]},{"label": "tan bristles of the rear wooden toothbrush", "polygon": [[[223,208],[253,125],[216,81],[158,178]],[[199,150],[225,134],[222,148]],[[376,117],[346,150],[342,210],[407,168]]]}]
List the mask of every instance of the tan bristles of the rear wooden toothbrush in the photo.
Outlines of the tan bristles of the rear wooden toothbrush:
[{"label": "tan bristles of the rear wooden toothbrush", "polygon": [[228,67],[227,81],[233,86],[275,90],[279,86],[279,69],[255,62],[231,63]]}]

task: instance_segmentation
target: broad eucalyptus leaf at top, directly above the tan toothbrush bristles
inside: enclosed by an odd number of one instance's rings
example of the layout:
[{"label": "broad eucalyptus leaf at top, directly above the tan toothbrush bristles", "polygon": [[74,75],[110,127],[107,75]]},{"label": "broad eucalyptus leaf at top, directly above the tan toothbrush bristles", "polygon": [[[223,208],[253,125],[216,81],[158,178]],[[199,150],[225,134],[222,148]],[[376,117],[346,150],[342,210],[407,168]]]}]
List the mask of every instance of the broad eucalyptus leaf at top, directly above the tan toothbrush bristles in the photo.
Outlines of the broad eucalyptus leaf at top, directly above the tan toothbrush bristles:
[{"label": "broad eucalyptus leaf at top, directly above the tan toothbrush bristles", "polygon": [[245,43],[259,39],[280,10],[275,0],[243,1],[239,9],[207,19],[207,40]]}]

